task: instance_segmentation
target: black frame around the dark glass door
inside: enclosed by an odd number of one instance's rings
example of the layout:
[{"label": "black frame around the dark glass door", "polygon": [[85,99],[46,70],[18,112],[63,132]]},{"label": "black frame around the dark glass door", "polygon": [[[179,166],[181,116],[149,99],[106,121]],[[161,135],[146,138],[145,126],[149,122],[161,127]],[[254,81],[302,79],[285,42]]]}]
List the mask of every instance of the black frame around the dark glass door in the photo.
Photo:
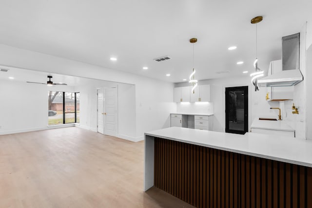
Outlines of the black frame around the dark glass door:
[{"label": "black frame around the dark glass door", "polygon": [[[245,134],[248,132],[248,124],[249,124],[249,101],[248,101],[248,88],[249,86],[240,86],[240,87],[226,87],[225,88],[225,132],[228,133],[238,133],[238,134]],[[229,91],[234,91],[234,90],[243,90],[244,91],[244,131],[239,131],[239,130],[230,130],[229,129],[229,118],[227,116],[227,111],[228,111],[228,97],[227,93]],[[247,96],[246,96],[247,94]]]}]

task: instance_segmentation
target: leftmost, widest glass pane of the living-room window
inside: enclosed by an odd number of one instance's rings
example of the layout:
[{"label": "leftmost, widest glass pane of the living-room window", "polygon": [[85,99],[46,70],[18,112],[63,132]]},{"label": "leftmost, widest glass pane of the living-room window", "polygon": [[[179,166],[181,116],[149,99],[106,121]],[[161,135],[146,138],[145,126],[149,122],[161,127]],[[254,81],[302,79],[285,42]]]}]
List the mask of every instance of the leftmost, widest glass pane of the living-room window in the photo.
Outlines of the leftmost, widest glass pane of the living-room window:
[{"label": "leftmost, widest glass pane of the living-room window", "polygon": [[48,124],[63,124],[63,92],[48,92]]}]

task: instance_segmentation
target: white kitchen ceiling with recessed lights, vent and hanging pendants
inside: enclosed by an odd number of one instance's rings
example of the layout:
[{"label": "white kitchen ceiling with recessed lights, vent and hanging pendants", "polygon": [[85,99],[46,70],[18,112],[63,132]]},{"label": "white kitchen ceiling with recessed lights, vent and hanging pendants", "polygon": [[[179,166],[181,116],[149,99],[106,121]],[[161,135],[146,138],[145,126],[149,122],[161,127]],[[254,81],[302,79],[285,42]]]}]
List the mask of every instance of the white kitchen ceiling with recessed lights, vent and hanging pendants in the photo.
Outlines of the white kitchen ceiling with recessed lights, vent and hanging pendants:
[{"label": "white kitchen ceiling with recessed lights, vent and hanging pendants", "polygon": [[[0,42],[181,82],[193,68],[195,37],[195,78],[234,77],[253,70],[253,17],[264,18],[257,25],[258,66],[266,70],[281,57],[281,37],[300,32],[311,8],[311,0],[1,0]],[[232,45],[237,49],[228,51]],[[162,56],[172,59],[153,60]]]}]

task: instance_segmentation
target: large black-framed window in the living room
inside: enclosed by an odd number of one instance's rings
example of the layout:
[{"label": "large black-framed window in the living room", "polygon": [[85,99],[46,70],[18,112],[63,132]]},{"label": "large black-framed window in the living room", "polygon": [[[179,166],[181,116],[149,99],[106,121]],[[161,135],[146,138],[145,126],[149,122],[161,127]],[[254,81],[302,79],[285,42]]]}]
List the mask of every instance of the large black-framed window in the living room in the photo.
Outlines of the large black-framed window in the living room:
[{"label": "large black-framed window in the living room", "polygon": [[72,92],[48,92],[49,125],[79,123],[80,94]]}]

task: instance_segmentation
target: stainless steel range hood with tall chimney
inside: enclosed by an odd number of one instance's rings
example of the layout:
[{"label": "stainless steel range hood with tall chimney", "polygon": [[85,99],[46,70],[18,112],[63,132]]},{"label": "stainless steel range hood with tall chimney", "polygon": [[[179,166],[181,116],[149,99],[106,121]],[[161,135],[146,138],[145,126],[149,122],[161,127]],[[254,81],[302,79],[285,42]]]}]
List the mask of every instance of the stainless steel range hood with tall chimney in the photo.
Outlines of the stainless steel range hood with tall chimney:
[{"label": "stainless steel range hood with tall chimney", "polygon": [[303,80],[299,70],[300,33],[282,38],[282,72],[258,80],[260,87],[286,87]]}]

